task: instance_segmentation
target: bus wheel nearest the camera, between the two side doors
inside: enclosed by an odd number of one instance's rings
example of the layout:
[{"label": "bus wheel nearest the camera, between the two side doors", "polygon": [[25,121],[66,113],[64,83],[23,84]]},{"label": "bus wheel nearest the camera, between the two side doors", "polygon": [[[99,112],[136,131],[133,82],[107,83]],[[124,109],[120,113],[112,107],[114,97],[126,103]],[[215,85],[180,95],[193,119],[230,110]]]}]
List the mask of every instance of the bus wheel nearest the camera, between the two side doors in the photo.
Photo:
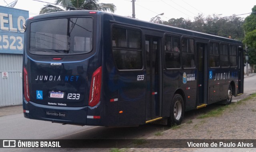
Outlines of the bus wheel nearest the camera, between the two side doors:
[{"label": "bus wheel nearest the camera, between the two side doors", "polygon": [[171,103],[168,126],[180,125],[184,117],[184,101],[180,94],[174,94]]}]

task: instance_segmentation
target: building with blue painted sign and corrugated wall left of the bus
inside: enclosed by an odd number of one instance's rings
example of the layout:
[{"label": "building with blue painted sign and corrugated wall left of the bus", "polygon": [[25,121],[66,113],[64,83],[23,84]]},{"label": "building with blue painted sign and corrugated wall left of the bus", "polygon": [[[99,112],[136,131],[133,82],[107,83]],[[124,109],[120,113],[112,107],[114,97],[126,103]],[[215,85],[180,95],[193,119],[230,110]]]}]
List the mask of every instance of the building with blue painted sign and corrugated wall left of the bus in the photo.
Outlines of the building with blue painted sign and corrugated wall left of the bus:
[{"label": "building with blue painted sign and corrugated wall left of the bus", "polygon": [[22,56],[28,11],[0,6],[0,107],[22,104]]}]

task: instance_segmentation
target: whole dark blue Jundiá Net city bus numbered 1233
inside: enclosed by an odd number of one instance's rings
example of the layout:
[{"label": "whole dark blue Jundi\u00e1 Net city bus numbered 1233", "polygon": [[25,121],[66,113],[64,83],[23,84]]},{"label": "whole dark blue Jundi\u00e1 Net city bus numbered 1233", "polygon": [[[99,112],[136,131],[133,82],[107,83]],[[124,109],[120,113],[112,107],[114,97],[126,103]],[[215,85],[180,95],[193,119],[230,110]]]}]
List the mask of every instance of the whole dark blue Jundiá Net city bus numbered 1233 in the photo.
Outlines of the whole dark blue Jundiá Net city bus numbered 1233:
[{"label": "whole dark blue Jundi\u00e1 Net city bus numbered 1233", "polygon": [[243,94],[241,41],[98,11],[26,20],[25,118],[179,125],[184,112]]}]

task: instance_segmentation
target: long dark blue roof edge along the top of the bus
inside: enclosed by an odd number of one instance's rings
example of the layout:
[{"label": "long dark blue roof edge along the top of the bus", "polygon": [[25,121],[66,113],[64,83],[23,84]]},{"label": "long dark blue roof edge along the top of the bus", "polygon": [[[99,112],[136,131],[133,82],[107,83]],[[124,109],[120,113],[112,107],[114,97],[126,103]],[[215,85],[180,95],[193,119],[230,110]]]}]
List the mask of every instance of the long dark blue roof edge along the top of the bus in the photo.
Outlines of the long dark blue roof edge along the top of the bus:
[{"label": "long dark blue roof edge along the top of the bus", "polygon": [[153,22],[147,22],[147,21],[143,21],[143,20],[138,20],[138,19],[129,18],[129,17],[120,16],[120,15],[112,14],[109,12],[102,12],[102,11],[92,11],[92,10],[62,11],[62,12],[42,14],[39,16],[35,16],[34,18],[35,19],[43,19],[43,18],[52,18],[52,17],[56,17],[56,16],[58,16],[58,17],[85,16],[87,14],[89,15],[90,12],[96,12],[95,14],[97,14],[98,16],[109,15],[113,19],[112,22],[116,22],[119,24],[125,24],[128,26],[134,26],[134,27],[139,27],[139,28],[148,28],[151,30],[158,30],[158,31],[160,30],[163,32],[179,34],[179,35],[183,35],[183,36],[192,36],[192,37],[203,38],[203,39],[207,39],[207,40],[216,40],[216,41],[222,41],[222,42],[226,42],[226,43],[242,45],[242,41],[234,40],[231,38],[224,38],[224,37],[215,36],[215,35],[211,35],[211,34],[196,32],[196,31],[192,31],[192,30],[186,30],[183,28],[176,28],[173,26],[157,24],[157,23],[153,23]]}]

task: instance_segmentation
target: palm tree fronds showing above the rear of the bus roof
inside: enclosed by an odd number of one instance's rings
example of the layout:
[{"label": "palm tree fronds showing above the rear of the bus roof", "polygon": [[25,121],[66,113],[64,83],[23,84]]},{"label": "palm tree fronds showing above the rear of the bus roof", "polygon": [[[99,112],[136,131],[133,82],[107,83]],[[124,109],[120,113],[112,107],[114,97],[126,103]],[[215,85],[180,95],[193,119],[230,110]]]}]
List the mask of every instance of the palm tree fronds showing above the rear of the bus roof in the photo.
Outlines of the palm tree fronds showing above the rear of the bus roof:
[{"label": "palm tree fronds showing above the rear of the bus roof", "polygon": [[[56,0],[55,5],[46,4],[41,8],[39,14],[60,12],[65,10],[100,10],[100,11],[110,11],[116,10],[114,4],[98,3],[99,0]],[[56,5],[60,5],[60,8]]]}]

